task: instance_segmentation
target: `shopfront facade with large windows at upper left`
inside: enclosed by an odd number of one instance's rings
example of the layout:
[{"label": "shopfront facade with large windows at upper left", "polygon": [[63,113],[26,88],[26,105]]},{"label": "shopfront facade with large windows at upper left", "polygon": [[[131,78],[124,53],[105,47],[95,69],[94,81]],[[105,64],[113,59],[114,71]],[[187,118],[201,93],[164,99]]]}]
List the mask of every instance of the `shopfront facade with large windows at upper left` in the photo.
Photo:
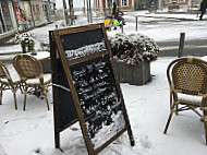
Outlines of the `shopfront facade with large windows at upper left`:
[{"label": "shopfront facade with large windows at upper left", "polygon": [[0,39],[56,21],[56,0],[0,0]]}]

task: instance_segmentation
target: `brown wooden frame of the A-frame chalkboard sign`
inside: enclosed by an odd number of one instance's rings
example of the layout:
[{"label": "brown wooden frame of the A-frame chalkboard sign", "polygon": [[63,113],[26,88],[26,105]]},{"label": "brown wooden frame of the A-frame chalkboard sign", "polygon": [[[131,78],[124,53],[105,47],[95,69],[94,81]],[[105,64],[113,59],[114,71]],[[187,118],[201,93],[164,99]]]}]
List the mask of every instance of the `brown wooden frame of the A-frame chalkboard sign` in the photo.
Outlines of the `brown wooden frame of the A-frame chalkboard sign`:
[{"label": "brown wooden frame of the A-frame chalkboard sign", "polygon": [[[88,31],[93,31],[93,29],[98,29],[101,31],[102,33],[102,37],[105,40],[105,46],[106,49],[95,52],[95,53],[90,53],[88,56],[84,56],[77,59],[72,59],[69,60],[65,57],[65,51],[63,48],[63,45],[61,43],[61,36],[63,35],[72,35],[72,34],[78,34],[78,33],[83,33],[83,32],[88,32]],[[119,138],[122,133],[124,133],[125,131],[127,131],[129,138],[130,138],[130,142],[131,145],[135,145],[135,141],[132,134],[132,130],[131,130],[131,124],[130,124],[130,120],[127,117],[127,112],[125,109],[125,105],[124,105],[124,100],[123,100],[123,95],[121,92],[121,87],[120,84],[118,82],[118,76],[117,76],[117,71],[114,70],[114,64],[112,61],[112,53],[111,53],[111,48],[110,48],[110,44],[108,41],[107,38],[107,34],[106,34],[106,29],[104,24],[94,24],[94,25],[87,25],[87,26],[80,26],[80,27],[71,27],[71,28],[64,28],[64,29],[56,29],[56,31],[50,31],[49,32],[49,36],[50,36],[50,51],[51,51],[51,68],[52,68],[52,83],[54,84],[52,86],[53,88],[53,115],[54,115],[54,142],[56,142],[56,147],[60,148],[60,132],[68,129],[70,126],[72,126],[73,123],[75,123],[76,121],[80,121],[80,126],[82,129],[82,133],[83,133],[83,138],[88,151],[89,155],[96,155],[98,154],[100,151],[102,151],[105,147],[107,147],[111,142],[113,142],[117,138]],[[121,129],[120,131],[118,131],[114,135],[112,135],[109,140],[107,140],[106,142],[104,142],[100,146],[98,146],[97,148],[94,148],[89,134],[88,134],[88,130],[86,127],[86,122],[84,119],[84,116],[82,114],[82,108],[80,106],[80,99],[78,99],[78,95],[77,92],[75,90],[74,86],[74,81],[73,81],[73,76],[71,73],[71,69],[70,67],[83,63],[83,62],[87,62],[87,61],[93,61],[93,59],[98,59],[101,57],[109,57],[109,61],[112,68],[112,74],[114,75],[114,85],[117,86],[117,91],[121,100],[121,106],[122,106],[122,111],[123,111],[123,118],[125,121],[124,128]],[[58,87],[56,86],[56,84],[59,84],[59,72],[58,72],[58,63],[61,63],[62,68],[63,68],[63,72],[65,75],[65,81],[68,82],[68,93],[70,92],[72,95],[72,100],[71,104],[74,104],[75,110],[76,110],[76,118],[73,117],[64,126],[60,126],[60,100],[58,99],[60,97]],[[59,85],[60,86],[60,85]],[[65,88],[65,87],[63,87]],[[70,104],[70,103],[69,103]]]}]

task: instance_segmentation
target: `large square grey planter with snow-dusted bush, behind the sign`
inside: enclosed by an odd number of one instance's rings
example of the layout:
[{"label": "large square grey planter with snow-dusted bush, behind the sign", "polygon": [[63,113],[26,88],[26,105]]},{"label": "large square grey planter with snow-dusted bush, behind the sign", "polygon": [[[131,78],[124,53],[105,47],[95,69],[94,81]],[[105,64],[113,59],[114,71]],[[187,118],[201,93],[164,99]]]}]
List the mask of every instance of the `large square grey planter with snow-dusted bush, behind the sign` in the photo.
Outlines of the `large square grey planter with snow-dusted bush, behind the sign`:
[{"label": "large square grey planter with snow-dusted bush, behind the sign", "polygon": [[120,82],[143,85],[150,78],[150,62],[157,59],[159,47],[142,34],[117,34],[109,37]]}]

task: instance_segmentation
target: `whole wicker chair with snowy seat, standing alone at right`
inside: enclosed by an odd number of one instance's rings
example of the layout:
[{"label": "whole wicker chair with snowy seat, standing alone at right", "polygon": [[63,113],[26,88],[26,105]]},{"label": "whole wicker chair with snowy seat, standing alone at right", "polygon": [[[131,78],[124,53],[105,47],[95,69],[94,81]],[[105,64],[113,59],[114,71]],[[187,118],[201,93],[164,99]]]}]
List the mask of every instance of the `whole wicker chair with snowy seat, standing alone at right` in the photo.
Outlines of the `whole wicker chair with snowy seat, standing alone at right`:
[{"label": "whole wicker chair with snowy seat, standing alone at right", "polygon": [[167,133],[173,114],[193,110],[204,120],[207,144],[207,62],[197,58],[176,59],[169,64],[167,78],[170,85],[170,116],[163,133]]}]

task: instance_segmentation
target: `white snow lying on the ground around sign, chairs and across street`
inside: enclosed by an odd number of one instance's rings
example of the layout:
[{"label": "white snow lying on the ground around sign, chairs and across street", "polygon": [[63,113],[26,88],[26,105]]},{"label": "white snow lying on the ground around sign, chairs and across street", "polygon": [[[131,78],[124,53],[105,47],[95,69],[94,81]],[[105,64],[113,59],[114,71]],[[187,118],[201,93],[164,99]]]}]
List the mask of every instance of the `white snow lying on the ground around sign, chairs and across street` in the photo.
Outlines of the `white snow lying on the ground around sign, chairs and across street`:
[{"label": "white snow lying on the ground around sign, chairs and across street", "polygon": [[[84,23],[84,21],[81,22]],[[133,24],[127,23],[124,31],[133,33]],[[195,25],[199,25],[200,29],[194,29]],[[34,32],[39,38],[45,39],[48,36],[45,33],[48,29],[54,29],[54,27],[56,23],[36,28]],[[205,27],[206,22],[195,21],[188,25],[186,22],[185,26],[179,27],[174,25],[153,27],[146,24],[139,27],[138,32],[157,41],[165,41],[166,39],[175,39],[175,36],[182,31],[194,33],[195,36],[191,35],[191,38],[206,37]],[[108,35],[119,32],[121,29],[108,32]],[[7,49],[11,50],[12,48],[8,47]],[[174,116],[168,134],[162,133],[170,111],[166,69],[173,59],[175,58],[158,58],[157,61],[151,62],[150,70],[155,76],[146,85],[121,84],[136,144],[132,147],[127,134],[124,133],[100,152],[100,155],[206,155],[204,126],[194,112],[186,111]],[[9,65],[9,70],[13,70],[12,65]],[[49,103],[52,103],[51,87],[48,92],[48,98]],[[52,104],[50,104],[51,109],[48,111],[45,100],[28,95],[26,110],[23,111],[23,94],[19,91],[17,105],[19,109],[15,110],[11,91],[3,92],[3,104],[0,105],[0,155],[87,154],[78,123],[60,134],[60,145],[64,153],[54,148]]]}]

